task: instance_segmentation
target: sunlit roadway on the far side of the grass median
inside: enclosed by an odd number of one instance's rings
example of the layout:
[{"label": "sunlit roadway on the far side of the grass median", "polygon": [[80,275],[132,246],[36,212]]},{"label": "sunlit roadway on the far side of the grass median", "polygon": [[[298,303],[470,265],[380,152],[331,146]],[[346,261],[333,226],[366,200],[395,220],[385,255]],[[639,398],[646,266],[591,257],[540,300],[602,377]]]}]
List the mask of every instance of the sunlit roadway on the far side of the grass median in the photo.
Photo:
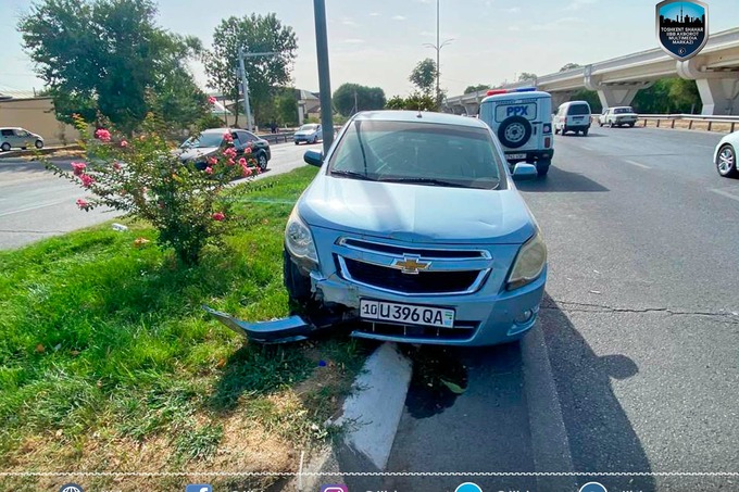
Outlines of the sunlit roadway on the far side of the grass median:
[{"label": "sunlit roadway on the far side of the grass median", "polygon": [[[272,146],[268,172],[263,176],[287,173],[303,165],[308,149],[321,144]],[[67,167],[70,160],[54,163]],[[100,224],[115,217],[111,211],[82,212],[75,201],[84,190],[25,159],[0,159],[0,250],[20,248],[42,238]]]}]

